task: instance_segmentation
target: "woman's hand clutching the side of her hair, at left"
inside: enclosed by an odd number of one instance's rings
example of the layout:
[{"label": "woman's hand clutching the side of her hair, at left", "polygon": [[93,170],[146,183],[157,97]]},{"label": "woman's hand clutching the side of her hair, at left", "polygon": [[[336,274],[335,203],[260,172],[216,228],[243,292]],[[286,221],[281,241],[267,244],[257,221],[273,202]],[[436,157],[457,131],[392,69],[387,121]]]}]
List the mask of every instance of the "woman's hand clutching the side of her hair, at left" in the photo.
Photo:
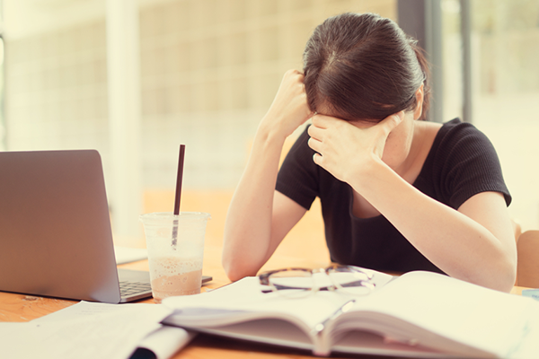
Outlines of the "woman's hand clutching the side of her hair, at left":
[{"label": "woman's hand clutching the side of her hair, at left", "polygon": [[291,135],[297,127],[313,116],[307,105],[304,75],[288,70],[275,95],[275,99],[262,123],[272,127],[283,136]]}]

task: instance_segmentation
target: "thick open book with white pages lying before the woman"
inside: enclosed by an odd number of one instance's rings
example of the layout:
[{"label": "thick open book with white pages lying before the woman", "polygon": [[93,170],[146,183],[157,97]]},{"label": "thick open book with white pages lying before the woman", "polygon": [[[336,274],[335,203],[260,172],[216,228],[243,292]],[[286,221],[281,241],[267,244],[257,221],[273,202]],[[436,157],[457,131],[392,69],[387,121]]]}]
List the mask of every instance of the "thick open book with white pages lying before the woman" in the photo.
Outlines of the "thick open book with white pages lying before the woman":
[{"label": "thick open book with white pages lying before the woman", "polygon": [[165,299],[175,310],[165,323],[314,355],[512,357],[526,341],[539,342],[537,328],[531,330],[530,319],[539,318],[533,299],[429,272],[375,278],[377,289],[366,296],[335,291],[286,298],[262,293],[258,278],[247,277]]}]

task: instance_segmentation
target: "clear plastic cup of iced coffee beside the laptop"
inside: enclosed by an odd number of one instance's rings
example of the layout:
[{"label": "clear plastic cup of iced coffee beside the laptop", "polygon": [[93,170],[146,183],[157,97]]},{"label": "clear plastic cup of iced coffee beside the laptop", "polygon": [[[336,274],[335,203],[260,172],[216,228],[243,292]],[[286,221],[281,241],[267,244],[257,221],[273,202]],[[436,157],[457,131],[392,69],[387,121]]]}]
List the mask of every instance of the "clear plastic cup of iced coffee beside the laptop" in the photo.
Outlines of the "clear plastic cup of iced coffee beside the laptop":
[{"label": "clear plastic cup of iced coffee beside the laptop", "polygon": [[210,215],[203,212],[140,215],[146,234],[155,302],[162,302],[166,297],[200,293],[204,236],[209,218]]}]

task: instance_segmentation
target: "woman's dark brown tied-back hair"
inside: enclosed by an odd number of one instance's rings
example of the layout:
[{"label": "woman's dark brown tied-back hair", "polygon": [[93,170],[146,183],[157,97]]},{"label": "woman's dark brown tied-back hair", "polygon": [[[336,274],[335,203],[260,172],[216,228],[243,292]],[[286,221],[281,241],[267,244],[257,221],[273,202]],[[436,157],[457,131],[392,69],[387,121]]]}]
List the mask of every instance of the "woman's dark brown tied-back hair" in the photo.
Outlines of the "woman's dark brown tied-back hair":
[{"label": "woman's dark brown tied-back hair", "polygon": [[380,121],[415,109],[421,84],[420,119],[429,110],[429,65],[417,41],[374,13],[342,13],[318,25],[305,46],[304,74],[313,111],[325,106],[343,119]]}]

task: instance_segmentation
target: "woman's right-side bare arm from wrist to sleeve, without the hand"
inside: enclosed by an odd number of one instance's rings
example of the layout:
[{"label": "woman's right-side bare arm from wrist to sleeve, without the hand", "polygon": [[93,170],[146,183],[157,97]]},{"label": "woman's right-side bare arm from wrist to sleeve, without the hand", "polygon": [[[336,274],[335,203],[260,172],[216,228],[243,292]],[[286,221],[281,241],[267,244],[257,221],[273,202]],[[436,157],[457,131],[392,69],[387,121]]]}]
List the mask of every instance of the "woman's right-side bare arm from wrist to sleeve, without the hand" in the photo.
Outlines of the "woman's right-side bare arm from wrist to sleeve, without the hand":
[{"label": "woman's right-side bare arm from wrist to sleeve, without the hand", "polygon": [[423,194],[384,163],[378,163],[364,180],[352,182],[447,275],[504,292],[515,284],[516,243],[500,193],[477,194],[457,211]]}]

